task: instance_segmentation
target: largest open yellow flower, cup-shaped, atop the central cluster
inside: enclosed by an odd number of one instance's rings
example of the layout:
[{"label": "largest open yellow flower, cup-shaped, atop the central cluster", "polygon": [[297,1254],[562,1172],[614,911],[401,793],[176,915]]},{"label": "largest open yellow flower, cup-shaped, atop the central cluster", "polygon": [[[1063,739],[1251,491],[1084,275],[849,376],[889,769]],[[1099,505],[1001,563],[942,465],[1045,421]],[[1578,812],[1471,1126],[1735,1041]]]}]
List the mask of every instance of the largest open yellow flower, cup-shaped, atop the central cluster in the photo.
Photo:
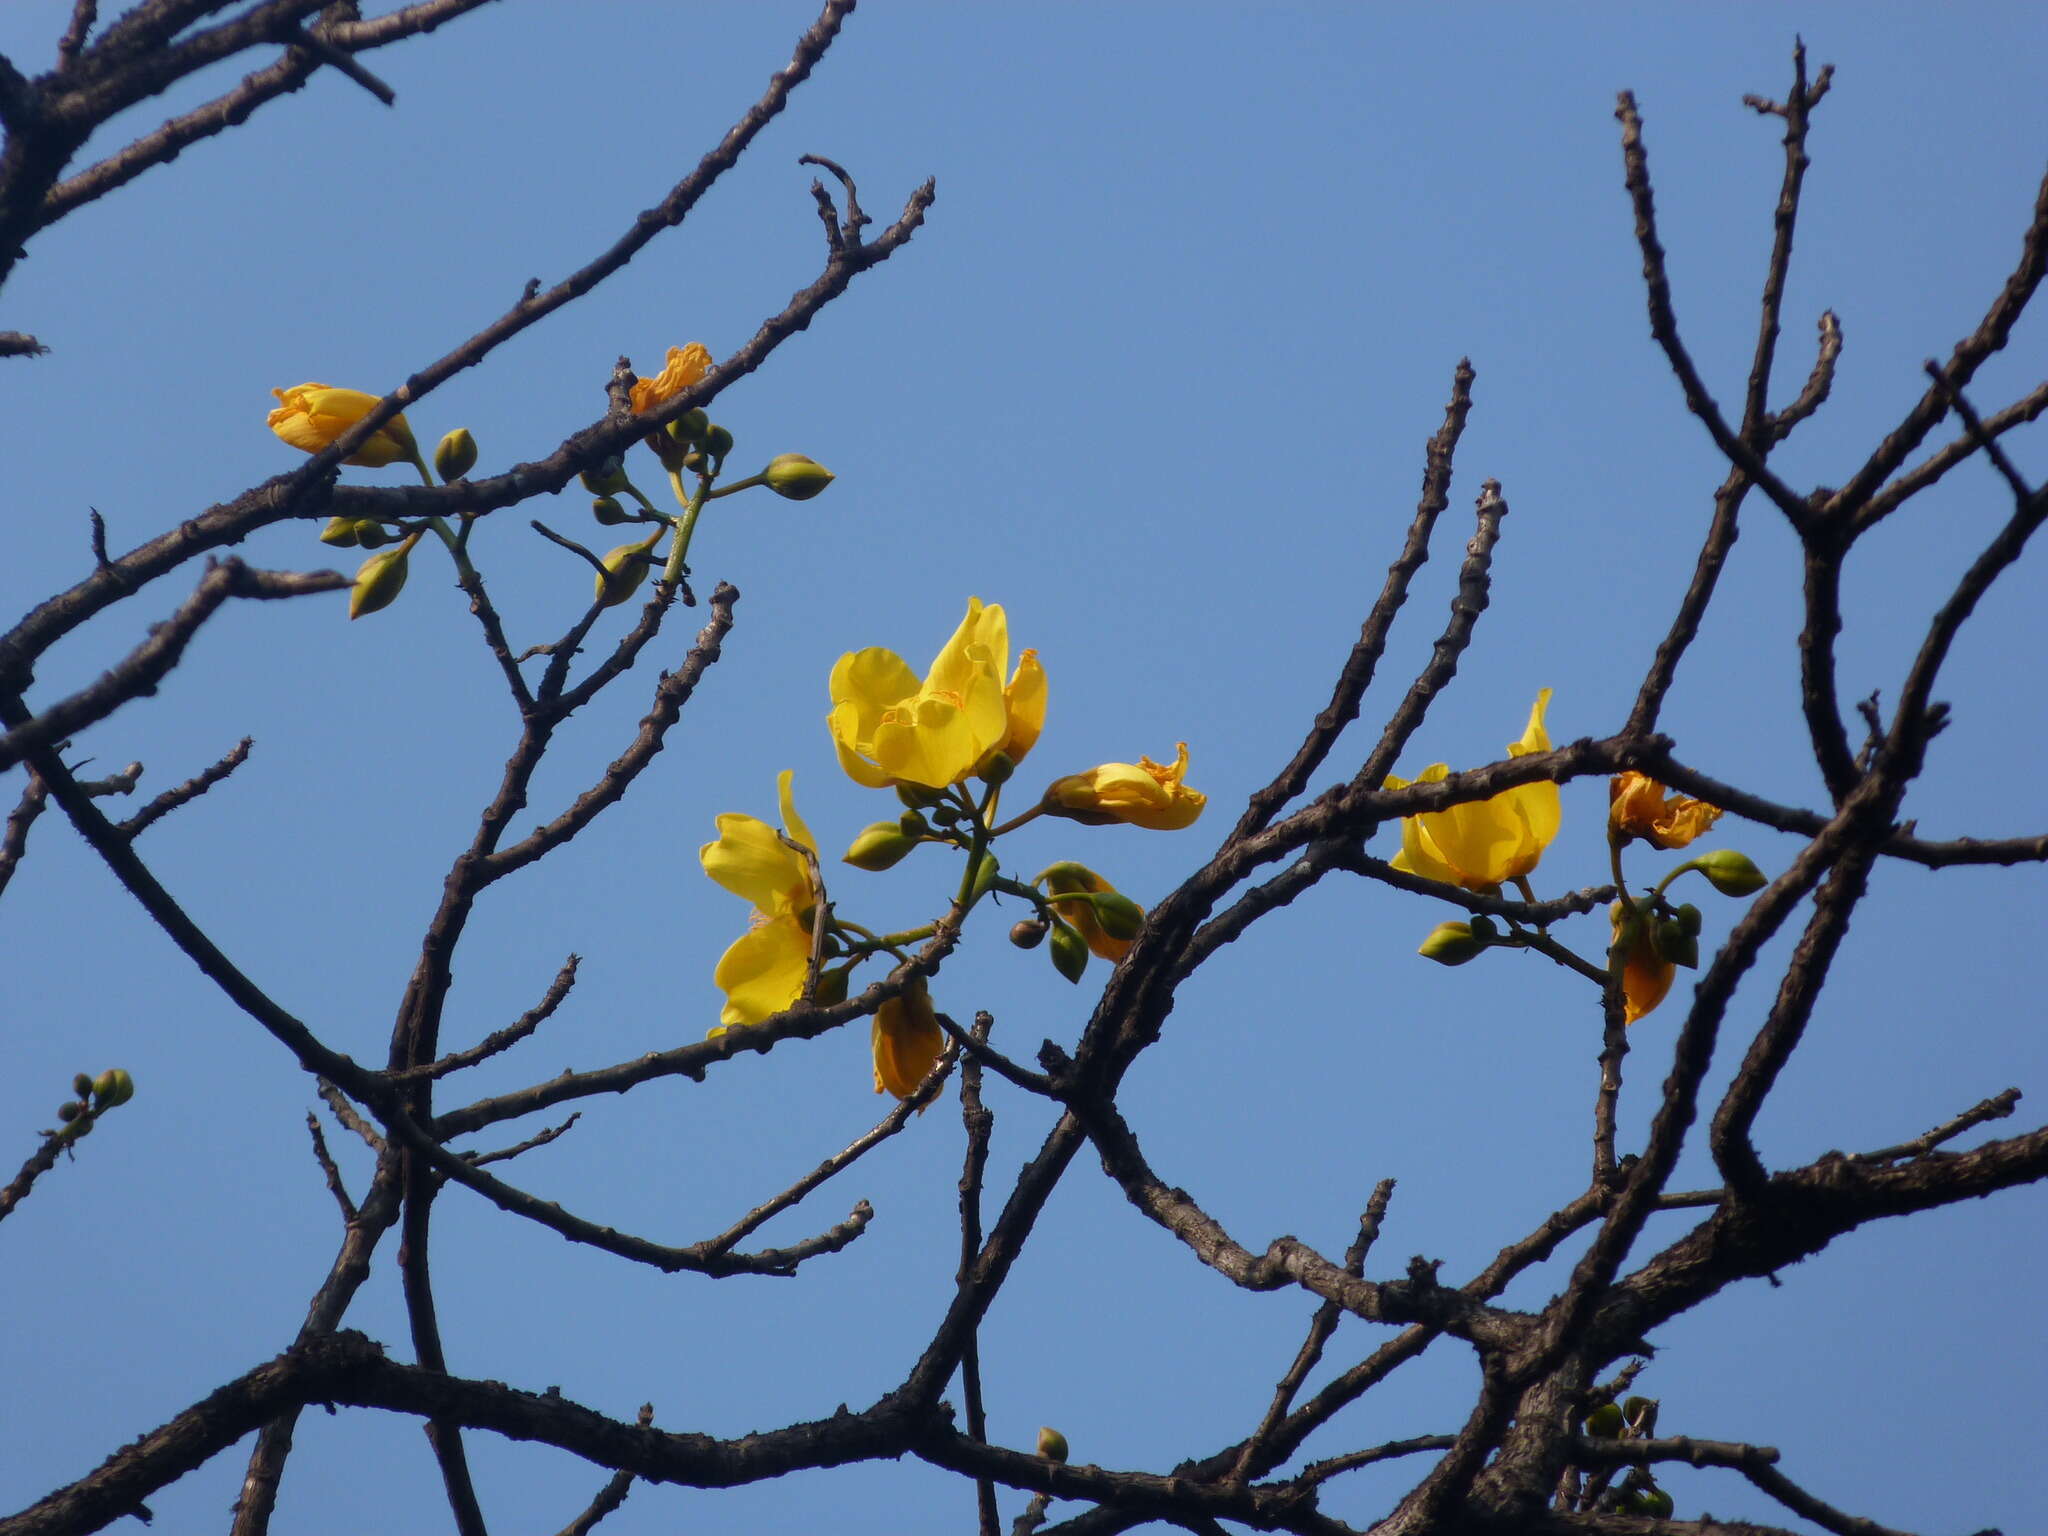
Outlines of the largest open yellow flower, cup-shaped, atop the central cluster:
[{"label": "largest open yellow flower, cup-shaped, atop the central cluster", "polygon": [[1001,604],[967,600],[967,618],[920,678],[901,655],[870,645],[831,668],[831,743],[856,784],[946,788],[995,754],[1018,762],[1044,725],[1044,670],[1036,651],[1010,666]]}]

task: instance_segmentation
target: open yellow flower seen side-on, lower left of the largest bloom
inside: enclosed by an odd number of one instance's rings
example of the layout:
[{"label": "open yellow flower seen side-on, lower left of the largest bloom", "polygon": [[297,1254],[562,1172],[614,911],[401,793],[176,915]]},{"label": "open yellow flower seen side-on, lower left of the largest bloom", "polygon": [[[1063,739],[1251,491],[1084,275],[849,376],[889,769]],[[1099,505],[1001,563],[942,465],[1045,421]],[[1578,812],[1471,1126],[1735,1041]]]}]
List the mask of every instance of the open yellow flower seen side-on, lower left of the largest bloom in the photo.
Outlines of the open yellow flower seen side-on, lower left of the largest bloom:
[{"label": "open yellow flower seen side-on, lower left of the largest bloom", "polygon": [[[776,776],[776,797],[791,840],[815,852],[811,829],[797,815],[786,768]],[[725,993],[725,1008],[719,1012],[719,1028],[711,1032],[723,1034],[735,1024],[760,1024],[803,995],[803,977],[811,965],[817,887],[811,883],[809,864],[776,836],[774,827],[752,815],[721,815],[719,840],[707,842],[696,858],[705,874],[754,903],[748,932],[719,956],[713,973],[713,981]]]}]

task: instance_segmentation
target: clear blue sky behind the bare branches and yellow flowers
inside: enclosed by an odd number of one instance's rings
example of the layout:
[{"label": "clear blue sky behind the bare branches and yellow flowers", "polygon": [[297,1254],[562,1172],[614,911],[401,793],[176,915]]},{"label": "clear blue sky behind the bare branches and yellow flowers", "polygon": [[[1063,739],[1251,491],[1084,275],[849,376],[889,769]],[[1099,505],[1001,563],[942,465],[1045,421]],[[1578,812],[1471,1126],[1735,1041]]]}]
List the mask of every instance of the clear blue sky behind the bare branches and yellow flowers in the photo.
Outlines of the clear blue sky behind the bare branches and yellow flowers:
[{"label": "clear blue sky behind the bare branches and yellow flowers", "polygon": [[[66,12],[0,8],[0,51],[47,68]],[[557,281],[610,244],[754,100],[809,14],[784,0],[487,8],[371,59],[395,109],[319,76],[37,238],[0,307],[0,326],[53,348],[0,369],[16,506],[0,608],[88,569],[88,506],[129,547],[293,467],[262,426],[270,387],[383,391],[526,279]],[[1823,307],[1847,334],[1829,406],[1774,461],[1804,487],[1864,459],[1919,395],[1921,360],[1974,328],[2017,256],[2048,154],[2036,8],[864,6],[688,225],[412,412],[422,438],[469,426],[479,471],[543,457],[602,412],[621,352],[649,373],[686,340],[725,354],[811,281],[821,240],[799,154],[842,162],[879,219],[938,178],[918,238],[717,401],[735,463],[803,451],[840,479],[815,502],[741,496],[707,514],[700,586],[743,592],[725,659],[627,805],[479,909],[453,1038],[530,1008],[567,952],[586,963],[557,1020],[475,1090],[666,1049],[713,1022],[711,967],[743,915],[696,868],[713,815],[772,815],[782,768],[827,846],[887,815],[834,766],[825,674],[860,645],[922,666],[969,594],[1004,602],[1051,676],[1026,778],[1186,739],[1190,782],[1212,801],[1184,834],[1032,827],[1016,864],[1083,858],[1143,901],[1171,889],[1327,698],[1399,549],[1460,356],[1479,377],[1452,510],[1366,727],[1427,655],[1473,498],[1497,477],[1511,512],[1493,604],[1401,768],[1499,756],[1544,686],[1556,739],[1616,729],[1720,467],[1649,340],[1614,92],[1642,106],[1679,324],[1710,387],[1737,401],[1780,174],[1778,123],[1741,96],[1784,94],[1794,33],[1837,78],[1810,141],[1776,397],[1804,377]],[[150,102],[125,127],[190,100]],[[2044,340],[2032,315],[1980,373],[1976,403],[2038,383]],[[2011,451],[2048,475],[2038,432]],[[399,469],[346,473],[403,483]],[[2003,512],[2001,485],[1972,465],[1855,551],[1845,698],[1896,696],[1927,612]],[[612,543],[575,494],[477,532],[516,643],[563,629],[590,580],[528,516]],[[1665,729],[1720,778],[1819,805],[1798,719],[1798,551],[1761,502],[1747,518]],[[238,553],[332,563],[311,535],[279,526]],[[1927,836],[2048,825],[2032,770],[2048,750],[2032,666],[2048,639],[2042,571],[2032,551],[1958,645],[1939,690],[1954,723],[1907,807]],[[176,594],[166,582],[68,641],[37,696],[92,678]],[[664,637],[659,666],[688,629]],[[573,721],[535,819],[618,752],[649,688],[621,684]],[[156,698],[78,752],[106,770],[141,758],[147,791],[246,733],[250,764],[143,854],[281,1001],[377,1057],[440,877],[510,748],[508,700],[451,584],[420,563],[403,600],[358,625],[340,600],[223,610]],[[1325,778],[1356,766],[1370,741],[1358,735]],[[1602,786],[1569,786],[1565,815],[1540,893],[1604,879]],[[1374,850],[1391,846],[1380,834]],[[1714,846],[1767,868],[1792,852],[1729,823]],[[1634,858],[1638,879],[1659,872]],[[934,915],[950,879],[911,860],[848,870],[834,897],[901,926]],[[1708,940],[1724,934],[1733,905],[1696,899]],[[1534,956],[1425,965],[1413,946],[1442,915],[1327,883],[1184,989],[1133,1073],[1126,1108],[1153,1163],[1249,1245],[1294,1233],[1337,1251],[1374,1180],[1395,1178],[1374,1270],[1425,1253],[1464,1278],[1583,1186],[1597,1001]],[[2048,1090],[2028,963],[2042,915],[2038,870],[1880,870],[1759,1124],[1765,1157],[1903,1141],[2007,1085],[2030,1094],[2009,1128],[2032,1124]],[[958,1018],[989,1008],[997,1040],[1030,1057],[1077,1034],[1100,969],[1067,987],[1001,926],[971,936],[938,1001]],[[0,1452],[0,1505],[18,1507],[283,1348],[338,1227],[305,1147],[307,1081],[55,817],[8,891],[0,965],[0,1126],[23,1155],[80,1067],[121,1063],[139,1085],[8,1223],[14,1311],[35,1321],[0,1339],[16,1401],[37,1403]],[[1761,1020],[1767,977],[1737,997],[1735,1038]],[[1636,1026],[1636,1141],[1688,989],[1681,977]],[[514,1178],[692,1241],[872,1124],[864,1057],[864,1034],[842,1032],[739,1059],[707,1085],[588,1104]],[[1004,1085],[989,1096],[1001,1188],[1049,1114]],[[653,1399],[664,1427],[713,1434],[864,1405],[950,1290],[958,1155],[942,1106],[780,1219],[772,1241],[862,1196],[879,1210],[848,1253],[791,1282],[662,1278],[451,1194],[436,1219],[451,1366],[621,1415]],[[362,1159],[350,1169],[360,1180]],[[1679,1174],[1706,1180],[1692,1163]],[[2044,1214],[2025,1190],[1851,1235],[1780,1288],[1731,1290],[1667,1327],[1640,1391],[1663,1399],[1671,1432],[1780,1446],[1784,1470],[1855,1513],[2017,1528],[2038,1501],[2048,1409]],[[1653,1237],[1681,1231],[1665,1221]],[[1567,1262],[1509,1300],[1540,1305]],[[1311,1311],[1298,1294],[1235,1292],[1083,1159],[989,1319],[991,1434],[1028,1446],[1057,1423],[1077,1460],[1120,1468],[1206,1454],[1255,1423]],[[389,1264],[356,1325],[403,1350]],[[1325,1370],[1378,1337],[1348,1323]],[[1456,1427],[1468,1356],[1444,1348],[1409,1372],[1309,1454]],[[160,1528],[217,1526],[244,1454],[158,1497]],[[508,1530],[557,1528],[602,1483],[485,1436],[471,1456]],[[1341,1479],[1325,1507],[1370,1522],[1413,1475]],[[434,1485],[414,1423],[309,1417],[279,1528],[375,1528],[395,1499],[432,1507]],[[1729,1475],[1667,1485],[1679,1513],[1778,1518]],[[885,1464],[721,1495],[639,1487],[606,1530],[969,1518],[969,1489]]]}]

